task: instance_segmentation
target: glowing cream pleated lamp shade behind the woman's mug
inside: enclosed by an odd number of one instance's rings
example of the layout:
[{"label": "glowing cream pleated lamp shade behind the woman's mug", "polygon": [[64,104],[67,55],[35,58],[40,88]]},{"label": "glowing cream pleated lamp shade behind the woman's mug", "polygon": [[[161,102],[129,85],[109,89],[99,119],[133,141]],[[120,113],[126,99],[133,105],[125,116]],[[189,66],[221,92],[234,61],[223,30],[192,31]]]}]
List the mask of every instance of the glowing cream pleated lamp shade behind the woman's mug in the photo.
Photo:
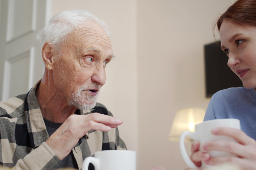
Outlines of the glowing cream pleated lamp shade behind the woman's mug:
[{"label": "glowing cream pleated lamp shade behind the woman's mug", "polygon": [[[195,125],[203,122],[206,110],[203,108],[185,108],[177,111],[172,128],[169,134],[169,140],[179,141],[179,136],[184,131],[195,131]],[[192,139],[186,138],[185,142]]]}]

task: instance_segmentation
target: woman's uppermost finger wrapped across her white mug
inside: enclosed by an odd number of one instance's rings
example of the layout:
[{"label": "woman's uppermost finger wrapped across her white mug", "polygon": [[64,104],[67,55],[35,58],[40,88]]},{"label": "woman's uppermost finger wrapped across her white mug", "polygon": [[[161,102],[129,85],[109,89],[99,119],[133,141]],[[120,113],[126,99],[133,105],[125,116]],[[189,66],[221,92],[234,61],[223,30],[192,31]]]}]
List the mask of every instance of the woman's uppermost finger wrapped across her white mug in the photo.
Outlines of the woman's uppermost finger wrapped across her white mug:
[{"label": "woman's uppermost finger wrapped across her white mug", "polygon": [[238,143],[242,145],[255,144],[255,140],[243,131],[239,129],[229,128],[229,127],[217,127],[212,129],[212,134],[214,135],[226,135],[234,138]]}]

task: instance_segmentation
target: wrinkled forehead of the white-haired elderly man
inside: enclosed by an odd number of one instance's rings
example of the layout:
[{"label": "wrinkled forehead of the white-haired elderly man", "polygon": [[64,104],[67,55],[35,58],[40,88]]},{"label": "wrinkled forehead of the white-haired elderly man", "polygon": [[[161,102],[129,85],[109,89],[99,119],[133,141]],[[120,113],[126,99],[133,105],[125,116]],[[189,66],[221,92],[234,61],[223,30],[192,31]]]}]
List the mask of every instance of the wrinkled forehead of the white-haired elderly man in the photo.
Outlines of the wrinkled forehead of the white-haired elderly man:
[{"label": "wrinkled forehead of the white-haired elderly man", "polygon": [[[111,40],[106,31],[95,21],[87,21],[70,34],[70,40],[82,50],[88,46],[111,48]],[[82,49],[81,49],[82,48]]]}]

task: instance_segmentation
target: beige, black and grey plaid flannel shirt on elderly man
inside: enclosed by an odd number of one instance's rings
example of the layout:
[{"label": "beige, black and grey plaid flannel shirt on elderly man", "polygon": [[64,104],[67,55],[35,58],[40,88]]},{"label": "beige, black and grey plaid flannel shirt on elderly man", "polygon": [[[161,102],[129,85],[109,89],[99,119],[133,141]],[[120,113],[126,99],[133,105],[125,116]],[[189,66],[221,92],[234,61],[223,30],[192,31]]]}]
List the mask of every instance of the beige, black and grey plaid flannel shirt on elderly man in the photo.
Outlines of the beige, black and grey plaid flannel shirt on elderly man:
[{"label": "beige, black and grey plaid flannel shirt on elderly man", "polygon": [[[46,144],[49,135],[35,91],[41,80],[27,93],[0,102],[0,163],[17,170],[56,169],[61,161]],[[97,103],[81,114],[101,113],[113,116]],[[96,151],[126,149],[118,128],[109,132],[89,131],[72,149],[79,169],[82,161]]]}]

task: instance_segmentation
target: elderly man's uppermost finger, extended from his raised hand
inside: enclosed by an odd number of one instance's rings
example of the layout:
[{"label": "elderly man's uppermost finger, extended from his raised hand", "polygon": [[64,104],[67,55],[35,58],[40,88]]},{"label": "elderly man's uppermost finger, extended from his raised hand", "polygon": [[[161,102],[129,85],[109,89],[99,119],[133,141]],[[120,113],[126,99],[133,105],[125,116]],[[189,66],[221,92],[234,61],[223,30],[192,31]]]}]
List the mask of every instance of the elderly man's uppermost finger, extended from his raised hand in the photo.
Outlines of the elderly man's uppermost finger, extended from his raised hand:
[{"label": "elderly man's uppermost finger, extended from his raised hand", "polygon": [[123,120],[114,118],[113,116],[103,115],[100,113],[91,113],[88,115],[84,115],[84,121],[87,122],[89,120],[93,120],[98,123],[103,123],[105,125],[115,125],[118,126],[123,123]]}]

